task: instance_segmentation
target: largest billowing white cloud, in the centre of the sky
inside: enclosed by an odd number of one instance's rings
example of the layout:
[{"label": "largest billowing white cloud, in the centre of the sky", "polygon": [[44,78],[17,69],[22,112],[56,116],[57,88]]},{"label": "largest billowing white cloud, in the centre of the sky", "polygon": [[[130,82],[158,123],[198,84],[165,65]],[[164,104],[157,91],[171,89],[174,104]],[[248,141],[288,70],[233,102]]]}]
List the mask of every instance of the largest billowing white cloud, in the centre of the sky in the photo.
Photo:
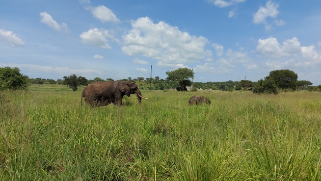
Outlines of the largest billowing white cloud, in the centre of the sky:
[{"label": "largest billowing white cloud, in the centre of the sky", "polygon": [[164,21],[153,23],[148,17],[131,22],[132,29],[123,36],[123,53],[128,56],[144,56],[162,64],[197,62],[211,56],[204,49],[208,40],[191,36]]}]

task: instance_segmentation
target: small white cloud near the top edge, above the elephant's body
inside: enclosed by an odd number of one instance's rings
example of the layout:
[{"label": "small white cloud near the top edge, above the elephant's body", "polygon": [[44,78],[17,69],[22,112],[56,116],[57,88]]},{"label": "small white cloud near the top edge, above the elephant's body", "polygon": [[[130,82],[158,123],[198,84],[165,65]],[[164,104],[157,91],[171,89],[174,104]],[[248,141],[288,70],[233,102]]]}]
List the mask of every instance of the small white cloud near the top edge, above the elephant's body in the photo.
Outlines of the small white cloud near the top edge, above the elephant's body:
[{"label": "small white cloud near the top edge, above the elephant's body", "polygon": [[103,5],[85,9],[89,10],[95,18],[100,19],[102,22],[119,22],[113,11]]}]

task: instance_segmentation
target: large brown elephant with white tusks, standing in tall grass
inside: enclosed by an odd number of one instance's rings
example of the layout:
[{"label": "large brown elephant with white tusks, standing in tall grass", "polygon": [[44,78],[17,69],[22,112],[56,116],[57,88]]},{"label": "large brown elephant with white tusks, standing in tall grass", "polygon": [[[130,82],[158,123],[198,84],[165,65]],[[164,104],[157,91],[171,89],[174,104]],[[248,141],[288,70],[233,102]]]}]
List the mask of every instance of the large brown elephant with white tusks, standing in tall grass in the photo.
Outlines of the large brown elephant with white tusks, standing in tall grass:
[{"label": "large brown elephant with white tusks, standing in tall grass", "polygon": [[142,96],[141,91],[133,82],[95,82],[83,90],[81,104],[83,105],[83,97],[85,97],[85,102],[92,107],[107,106],[111,103],[121,106],[123,96],[127,95],[130,97],[130,94],[136,94],[140,103],[142,102],[142,98],[147,99]]}]

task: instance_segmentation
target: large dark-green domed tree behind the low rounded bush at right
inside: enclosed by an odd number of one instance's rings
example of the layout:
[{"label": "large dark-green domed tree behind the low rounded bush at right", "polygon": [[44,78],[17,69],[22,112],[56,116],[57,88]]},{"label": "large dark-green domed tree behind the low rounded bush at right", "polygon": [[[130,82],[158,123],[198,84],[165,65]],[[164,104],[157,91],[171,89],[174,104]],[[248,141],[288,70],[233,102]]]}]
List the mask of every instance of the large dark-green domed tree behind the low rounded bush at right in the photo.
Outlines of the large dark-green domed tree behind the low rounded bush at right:
[{"label": "large dark-green domed tree behind the low rounded bush at right", "polygon": [[273,70],[265,80],[270,80],[280,89],[296,89],[298,74],[292,70]]}]

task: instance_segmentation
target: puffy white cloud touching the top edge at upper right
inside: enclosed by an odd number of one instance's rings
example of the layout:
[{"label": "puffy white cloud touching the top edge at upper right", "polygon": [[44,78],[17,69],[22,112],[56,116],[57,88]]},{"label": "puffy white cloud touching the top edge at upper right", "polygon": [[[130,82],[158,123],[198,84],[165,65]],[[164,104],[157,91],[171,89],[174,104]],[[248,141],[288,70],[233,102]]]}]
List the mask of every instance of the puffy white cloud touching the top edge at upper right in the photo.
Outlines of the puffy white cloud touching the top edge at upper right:
[{"label": "puffy white cloud touching the top edge at upper right", "polygon": [[[260,7],[258,11],[253,14],[253,22],[256,24],[265,24],[265,29],[270,29],[272,25],[266,21],[266,18],[276,18],[279,14],[278,8],[278,4],[268,1],[264,7]],[[283,20],[275,20],[274,23],[276,25],[284,25]]]}]

